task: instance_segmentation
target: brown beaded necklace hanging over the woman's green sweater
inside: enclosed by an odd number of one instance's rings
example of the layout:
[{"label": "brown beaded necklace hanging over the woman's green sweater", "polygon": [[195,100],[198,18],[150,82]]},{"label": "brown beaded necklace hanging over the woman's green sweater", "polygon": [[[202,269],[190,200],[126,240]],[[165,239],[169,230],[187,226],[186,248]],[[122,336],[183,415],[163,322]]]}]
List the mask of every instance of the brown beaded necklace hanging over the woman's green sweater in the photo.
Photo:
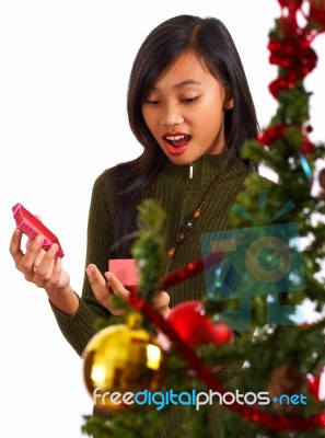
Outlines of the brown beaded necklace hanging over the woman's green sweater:
[{"label": "brown beaded necklace hanging over the woman's green sweater", "polygon": [[[204,206],[205,206],[210,193],[212,192],[214,185],[217,183],[219,183],[221,181],[221,178],[229,172],[229,170],[233,165],[234,161],[235,161],[235,159],[231,160],[229,162],[228,166],[225,169],[223,169],[223,171],[218,173],[217,176],[213,177],[213,180],[209,184],[208,188],[206,189],[206,192],[205,192],[205,194],[204,194],[204,196],[202,196],[202,198],[200,200],[200,204],[194,210],[194,212],[191,215],[191,218],[189,219],[189,221],[186,224],[183,224],[181,227],[179,232],[176,235],[172,247],[167,251],[167,256],[170,258],[172,258],[175,255],[176,249],[181,245],[181,243],[184,242],[187,233],[193,229],[194,222],[201,216],[202,208],[204,208]],[[154,197],[155,184],[156,184],[156,178],[154,178],[153,184],[151,186],[150,197]]]}]

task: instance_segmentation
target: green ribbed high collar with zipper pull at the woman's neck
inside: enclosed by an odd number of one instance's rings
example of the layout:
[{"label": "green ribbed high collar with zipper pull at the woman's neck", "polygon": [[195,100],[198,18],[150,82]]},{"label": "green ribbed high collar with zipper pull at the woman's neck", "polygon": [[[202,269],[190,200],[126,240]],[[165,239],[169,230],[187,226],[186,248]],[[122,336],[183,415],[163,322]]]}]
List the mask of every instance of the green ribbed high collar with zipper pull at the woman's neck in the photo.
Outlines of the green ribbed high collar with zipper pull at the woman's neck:
[{"label": "green ribbed high collar with zipper pull at the woman's neck", "polygon": [[[229,162],[230,158],[227,152],[202,155],[193,163],[193,178],[189,178],[189,164],[178,165],[169,160],[161,172],[159,181],[173,189],[202,188],[209,185],[227,168]],[[247,171],[247,165],[237,158],[222,180],[230,180]]]}]

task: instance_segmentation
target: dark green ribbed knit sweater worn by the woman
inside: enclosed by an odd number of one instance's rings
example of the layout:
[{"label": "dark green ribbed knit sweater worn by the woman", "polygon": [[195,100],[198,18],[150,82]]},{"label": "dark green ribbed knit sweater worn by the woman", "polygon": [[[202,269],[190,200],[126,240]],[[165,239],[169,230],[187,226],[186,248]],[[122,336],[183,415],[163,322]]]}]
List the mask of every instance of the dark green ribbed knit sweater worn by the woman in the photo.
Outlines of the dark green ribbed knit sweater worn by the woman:
[{"label": "dark green ribbed knit sweater worn by the woman", "polygon": [[[167,247],[171,247],[179,227],[184,226],[191,218],[193,211],[200,204],[204,194],[210,182],[228,165],[225,153],[216,155],[205,155],[194,164],[194,177],[189,178],[188,165],[176,165],[167,162],[155,185],[154,197],[166,211],[164,227],[164,238]],[[178,269],[201,256],[200,235],[204,232],[216,232],[229,230],[230,209],[240,192],[244,189],[244,180],[249,169],[237,159],[230,171],[213,187],[210,193],[201,216],[194,223],[193,229],[187,234],[185,241],[177,247],[173,258],[169,260],[165,273]],[[113,170],[104,171],[95,181],[88,227],[88,249],[86,265],[94,263],[104,273],[107,270],[111,257],[109,246],[113,241],[113,223],[116,218],[112,201]],[[193,299],[201,299],[205,296],[205,276],[198,275],[190,280],[175,286],[167,290],[171,297],[171,307],[174,304]],[[67,341],[76,351],[81,355],[86,343],[94,335],[94,321],[98,316],[107,316],[109,312],[95,299],[88,278],[84,278],[80,306],[74,315],[67,315],[53,306],[53,310],[59,327]],[[165,422],[164,430],[159,435],[160,438],[171,437],[172,433],[181,423],[182,408],[174,406]],[[211,415],[211,428],[217,434],[219,408],[209,411]],[[97,410],[96,416],[102,416]],[[216,423],[217,422],[217,423]],[[210,423],[210,422],[209,422]],[[216,435],[218,436],[218,435]]]}]

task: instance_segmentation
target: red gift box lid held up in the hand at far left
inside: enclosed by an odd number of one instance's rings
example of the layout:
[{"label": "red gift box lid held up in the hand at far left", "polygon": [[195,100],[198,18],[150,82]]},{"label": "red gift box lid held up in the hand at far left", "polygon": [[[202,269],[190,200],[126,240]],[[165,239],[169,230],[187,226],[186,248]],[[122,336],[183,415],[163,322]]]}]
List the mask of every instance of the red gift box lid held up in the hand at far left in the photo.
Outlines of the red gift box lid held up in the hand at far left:
[{"label": "red gift box lid held up in the hand at far left", "polygon": [[59,249],[55,255],[55,258],[62,258],[65,253],[61,249],[58,238],[46,228],[40,220],[35,218],[28,210],[26,210],[21,204],[16,204],[12,207],[13,217],[18,228],[26,234],[30,239],[34,240],[37,235],[44,237],[43,250],[47,251],[53,243],[57,243]]}]

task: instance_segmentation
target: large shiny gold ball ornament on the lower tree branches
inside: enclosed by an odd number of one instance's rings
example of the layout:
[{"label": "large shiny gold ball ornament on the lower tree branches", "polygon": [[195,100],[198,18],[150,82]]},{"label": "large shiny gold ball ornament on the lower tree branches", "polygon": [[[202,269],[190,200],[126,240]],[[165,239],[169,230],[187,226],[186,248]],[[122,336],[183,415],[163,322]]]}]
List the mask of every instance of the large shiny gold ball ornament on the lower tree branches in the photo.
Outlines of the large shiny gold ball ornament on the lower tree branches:
[{"label": "large shiny gold ball ornament on the lower tree branches", "polygon": [[83,358],[86,389],[94,404],[108,412],[134,406],[130,393],[159,390],[166,370],[166,354],[137,316],[100,331]]}]

